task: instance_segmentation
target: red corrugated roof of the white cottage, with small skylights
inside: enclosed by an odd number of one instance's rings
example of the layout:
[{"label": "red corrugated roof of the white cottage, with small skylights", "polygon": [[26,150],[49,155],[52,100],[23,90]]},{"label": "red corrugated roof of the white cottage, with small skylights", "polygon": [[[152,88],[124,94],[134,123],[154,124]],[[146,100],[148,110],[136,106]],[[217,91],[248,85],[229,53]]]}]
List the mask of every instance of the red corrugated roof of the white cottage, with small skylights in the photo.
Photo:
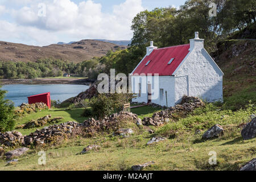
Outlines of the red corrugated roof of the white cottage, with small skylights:
[{"label": "red corrugated roof of the white cottage, with small skylights", "polygon": [[[188,55],[189,44],[180,46],[164,47],[154,49],[150,55],[146,56],[141,64],[134,70],[133,74],[138,73],[141,75],[145,73],[155,74],[159,76],[170,76],[174,73],[180,63],[183,61],[185,56]],[[174,58],[171,64],[168,62]],[[150,61],[148,65],[146,63]]]}]

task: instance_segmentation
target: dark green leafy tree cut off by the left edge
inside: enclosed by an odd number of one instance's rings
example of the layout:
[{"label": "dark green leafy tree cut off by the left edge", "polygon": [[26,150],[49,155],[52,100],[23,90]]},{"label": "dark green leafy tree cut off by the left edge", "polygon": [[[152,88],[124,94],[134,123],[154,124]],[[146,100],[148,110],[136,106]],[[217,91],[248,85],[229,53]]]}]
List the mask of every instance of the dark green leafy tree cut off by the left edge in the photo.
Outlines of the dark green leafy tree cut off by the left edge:
[{"label": "dark green leafy tree cut off by the left edge", "polygon": [[[0,85],[1,88],[1,85]],[[5,100],[5,90],[0,89],[0,132],[14,129],[14,103]]]}]

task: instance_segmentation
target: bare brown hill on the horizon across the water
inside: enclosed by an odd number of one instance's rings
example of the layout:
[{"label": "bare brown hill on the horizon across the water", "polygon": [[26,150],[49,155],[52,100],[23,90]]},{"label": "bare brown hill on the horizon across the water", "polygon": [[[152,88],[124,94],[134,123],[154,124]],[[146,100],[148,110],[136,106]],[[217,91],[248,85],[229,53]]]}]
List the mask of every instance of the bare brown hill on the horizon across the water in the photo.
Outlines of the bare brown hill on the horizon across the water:
[{"label": "bare brown hill on the horizon across the water", "polygon": [[126,46],[98,40],[80,40],[69,44],[59,43],[43,47],[0,41],[0,60],[28,62],[53,58],[79,63],[92,57],[105,56],[110,50],[117,51],[126,48]]}]

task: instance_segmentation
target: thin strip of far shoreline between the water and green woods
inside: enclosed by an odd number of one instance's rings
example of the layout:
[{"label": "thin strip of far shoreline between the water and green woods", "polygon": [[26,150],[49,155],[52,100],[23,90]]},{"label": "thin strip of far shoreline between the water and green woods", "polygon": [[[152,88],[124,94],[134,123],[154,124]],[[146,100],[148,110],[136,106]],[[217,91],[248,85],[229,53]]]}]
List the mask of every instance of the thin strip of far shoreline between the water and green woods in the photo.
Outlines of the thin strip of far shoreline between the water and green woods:
[{"label": "thin strip of far shoreline between the water and green woods", "polygon": [[76,85],[92,85],[94,80],[88,78],[33,78],[33,79],[0,79],[1,85],[43,85],[43,84],[76,84]]}]

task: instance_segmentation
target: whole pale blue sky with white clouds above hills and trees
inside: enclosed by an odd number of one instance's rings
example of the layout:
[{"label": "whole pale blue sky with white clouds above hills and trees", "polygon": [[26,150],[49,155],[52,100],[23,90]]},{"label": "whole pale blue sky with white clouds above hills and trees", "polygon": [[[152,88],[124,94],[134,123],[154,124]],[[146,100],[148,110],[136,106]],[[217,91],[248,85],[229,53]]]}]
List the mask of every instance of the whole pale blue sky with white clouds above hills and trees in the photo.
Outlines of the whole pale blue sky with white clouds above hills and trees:
[{"label": "whole pale blue sky with white clouds above hills and trees", "polygon": [[34,46],[82,39],[130,40],[134,16],[185,0],[0,0],[0,40]]}]

